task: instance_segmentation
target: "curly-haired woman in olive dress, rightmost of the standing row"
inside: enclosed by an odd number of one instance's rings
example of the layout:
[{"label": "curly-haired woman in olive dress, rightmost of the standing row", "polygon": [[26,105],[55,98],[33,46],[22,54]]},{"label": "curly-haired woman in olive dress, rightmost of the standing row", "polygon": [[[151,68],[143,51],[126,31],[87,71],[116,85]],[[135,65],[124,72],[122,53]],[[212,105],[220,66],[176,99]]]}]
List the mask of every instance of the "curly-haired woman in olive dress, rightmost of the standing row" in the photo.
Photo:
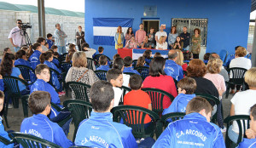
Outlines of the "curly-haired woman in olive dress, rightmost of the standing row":
[{"label": "curly-haired woman in olive dress, rightmost of the standing row", "polygon": [[195,28],[194,35],[192,36],[192,53],[194,59],[199,59],[199,54],[201,51],[201,35],[200,30]]}]

